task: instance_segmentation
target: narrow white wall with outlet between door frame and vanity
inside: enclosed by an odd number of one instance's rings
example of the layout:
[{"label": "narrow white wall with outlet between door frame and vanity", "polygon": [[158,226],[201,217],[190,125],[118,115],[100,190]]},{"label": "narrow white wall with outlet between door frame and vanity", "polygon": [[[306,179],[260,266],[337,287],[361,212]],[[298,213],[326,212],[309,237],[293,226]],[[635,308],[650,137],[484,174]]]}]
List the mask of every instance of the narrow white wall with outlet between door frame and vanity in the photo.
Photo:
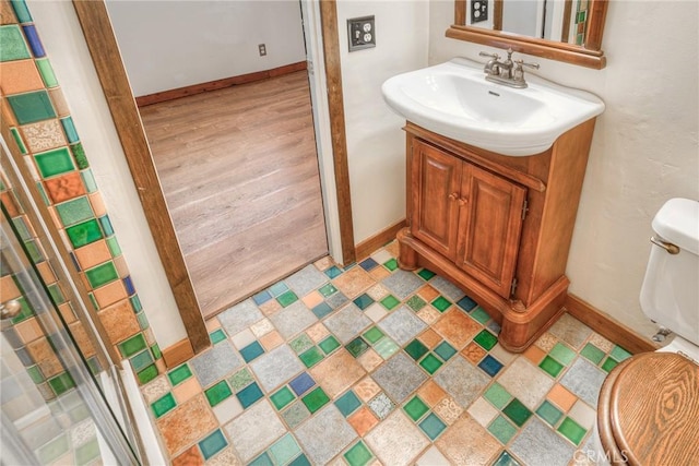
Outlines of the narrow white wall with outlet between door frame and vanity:
[{"label": "narrow white wall with outlet between door frame and vanity", "polygon": [[[405,120],[381,84],[427,65],[429,2],[337,2],[342,84],[355,242],[405,218]],[[347,51],[347,19],[376,16],[376,48]]]}]

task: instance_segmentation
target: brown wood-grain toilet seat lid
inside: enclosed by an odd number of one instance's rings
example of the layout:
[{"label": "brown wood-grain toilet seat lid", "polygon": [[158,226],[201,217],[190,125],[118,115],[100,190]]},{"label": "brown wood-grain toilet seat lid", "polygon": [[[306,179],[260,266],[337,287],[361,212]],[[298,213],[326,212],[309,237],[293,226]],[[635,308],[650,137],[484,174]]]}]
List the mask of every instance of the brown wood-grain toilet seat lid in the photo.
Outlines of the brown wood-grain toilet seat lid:
[{"label": "brown wood-grain toilet seat lid", "polygon": [[699,461],[699,366],[674,353],[637,355],[609,392],[609,423],[629,464]]}]

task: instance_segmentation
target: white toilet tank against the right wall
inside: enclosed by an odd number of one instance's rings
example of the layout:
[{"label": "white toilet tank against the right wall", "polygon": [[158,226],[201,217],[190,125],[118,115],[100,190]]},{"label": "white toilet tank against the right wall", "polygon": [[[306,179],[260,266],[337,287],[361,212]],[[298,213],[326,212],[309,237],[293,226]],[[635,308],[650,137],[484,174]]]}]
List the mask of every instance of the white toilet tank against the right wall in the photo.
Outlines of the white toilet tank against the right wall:
[{"label": "white toilet tank against the right wall", "polygon": [[699,202],[671,199],[655,214],[653,230],[656,241],[679,252],[651,247],[641,308],[659,325],[699,345]]}]

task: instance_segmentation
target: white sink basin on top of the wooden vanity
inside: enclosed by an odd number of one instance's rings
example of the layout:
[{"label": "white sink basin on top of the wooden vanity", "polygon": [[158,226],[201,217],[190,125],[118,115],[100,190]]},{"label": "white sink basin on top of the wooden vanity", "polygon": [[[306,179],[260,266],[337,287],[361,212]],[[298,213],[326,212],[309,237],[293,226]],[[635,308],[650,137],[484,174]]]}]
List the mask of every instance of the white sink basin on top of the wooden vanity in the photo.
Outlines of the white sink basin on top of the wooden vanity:
[{"label": "white sink basin on top of the wooden vanity", "polygon": [[463,58],[399,74],[383,83],[389,107],[435,133],[510,156],[549,148],[556,139],[604,111],[593,94],[525,74],[518,89],[485,80]]}]

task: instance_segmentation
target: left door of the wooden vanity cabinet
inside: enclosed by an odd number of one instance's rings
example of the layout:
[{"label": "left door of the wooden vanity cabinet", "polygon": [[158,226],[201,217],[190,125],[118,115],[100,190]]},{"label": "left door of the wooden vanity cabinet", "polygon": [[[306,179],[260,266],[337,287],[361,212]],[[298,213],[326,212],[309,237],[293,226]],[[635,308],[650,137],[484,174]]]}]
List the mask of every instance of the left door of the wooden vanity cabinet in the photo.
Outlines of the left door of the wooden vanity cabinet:
[{"label": "left door of the wooden vanity cabinet", "polygon": [[436,147],[413,142],[411,232],[452,261],[457,259],[462,164]]}]

